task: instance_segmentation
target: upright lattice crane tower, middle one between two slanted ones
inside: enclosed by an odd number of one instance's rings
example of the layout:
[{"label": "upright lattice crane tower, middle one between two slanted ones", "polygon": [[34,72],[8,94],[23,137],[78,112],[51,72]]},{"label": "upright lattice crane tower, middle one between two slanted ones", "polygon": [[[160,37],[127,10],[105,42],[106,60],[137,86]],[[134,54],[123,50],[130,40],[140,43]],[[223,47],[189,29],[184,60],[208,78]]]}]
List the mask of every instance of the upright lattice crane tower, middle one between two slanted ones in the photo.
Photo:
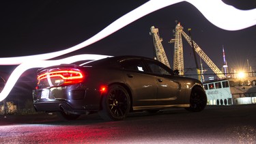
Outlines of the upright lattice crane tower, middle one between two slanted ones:
[{"label": "upright lattice crane tower, middle one between two slanted ones", "polygon": [[169,43],[174,42],[173,53],[173,70],[179,70],[180,75],[184,75],[184,57],[182,45],[183,27],[178,23],[175,27],[175,39],[171,39]]}]

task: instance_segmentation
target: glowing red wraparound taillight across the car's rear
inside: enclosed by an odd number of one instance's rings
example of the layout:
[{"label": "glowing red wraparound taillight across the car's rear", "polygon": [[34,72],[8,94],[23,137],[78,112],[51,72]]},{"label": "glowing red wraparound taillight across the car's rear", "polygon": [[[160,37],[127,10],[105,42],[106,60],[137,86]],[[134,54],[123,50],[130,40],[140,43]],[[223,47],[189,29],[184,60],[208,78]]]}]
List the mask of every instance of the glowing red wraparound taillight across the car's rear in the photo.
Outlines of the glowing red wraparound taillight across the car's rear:
[{"label": "glowing red wraparound taillight across the car's rear", "polygon": [[84,79],[85,74],[81,70],[74,68],[58,68],[38,74],[38,84],[41,81],[47,81],[51,87],[82,83]]}]

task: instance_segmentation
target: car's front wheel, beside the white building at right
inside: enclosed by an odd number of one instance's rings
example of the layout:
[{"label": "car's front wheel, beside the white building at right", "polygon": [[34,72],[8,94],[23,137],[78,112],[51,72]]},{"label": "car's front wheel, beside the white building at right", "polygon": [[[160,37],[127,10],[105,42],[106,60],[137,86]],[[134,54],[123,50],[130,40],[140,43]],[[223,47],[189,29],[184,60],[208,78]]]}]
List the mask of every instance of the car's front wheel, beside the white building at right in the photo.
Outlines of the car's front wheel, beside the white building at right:
[{"label": "car's front wheel, beside the white building at right", "polygon": [[190,107],[186,108],[187,111],[199,112],[205,109],[207,104],[207,96],[201,87],[194,87],[190,94]]}]

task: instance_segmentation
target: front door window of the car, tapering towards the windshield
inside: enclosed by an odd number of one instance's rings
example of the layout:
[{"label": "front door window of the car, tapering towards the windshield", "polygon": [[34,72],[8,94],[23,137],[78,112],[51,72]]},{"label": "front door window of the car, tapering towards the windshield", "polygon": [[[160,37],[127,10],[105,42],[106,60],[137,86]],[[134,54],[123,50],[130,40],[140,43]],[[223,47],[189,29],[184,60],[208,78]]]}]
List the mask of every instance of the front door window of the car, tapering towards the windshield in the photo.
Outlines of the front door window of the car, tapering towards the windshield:
[{"label": "front door window of the car, tapering towards the windshield", "polygon": [[172,75],[168,72],[165,68],[158,65],[158,63],[154,63],[152,61],[147,61],[147,66],[150,68],[153,74],[160,74],[160,75]]}]

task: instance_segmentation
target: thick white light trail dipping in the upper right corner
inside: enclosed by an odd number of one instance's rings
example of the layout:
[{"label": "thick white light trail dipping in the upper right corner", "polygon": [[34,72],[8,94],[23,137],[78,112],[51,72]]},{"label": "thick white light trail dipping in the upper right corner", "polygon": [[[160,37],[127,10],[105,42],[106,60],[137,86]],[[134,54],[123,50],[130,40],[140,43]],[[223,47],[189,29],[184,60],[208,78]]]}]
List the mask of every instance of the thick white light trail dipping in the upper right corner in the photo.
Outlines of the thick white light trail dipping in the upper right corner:
[{"label": "thick white light trail dipping in the upper right corner", "polygon": [[210,23],[221,29],[237,31],[256,25],[256,9],[238,10],[221,0],[188,0],[188,2],[193,4]]}]

